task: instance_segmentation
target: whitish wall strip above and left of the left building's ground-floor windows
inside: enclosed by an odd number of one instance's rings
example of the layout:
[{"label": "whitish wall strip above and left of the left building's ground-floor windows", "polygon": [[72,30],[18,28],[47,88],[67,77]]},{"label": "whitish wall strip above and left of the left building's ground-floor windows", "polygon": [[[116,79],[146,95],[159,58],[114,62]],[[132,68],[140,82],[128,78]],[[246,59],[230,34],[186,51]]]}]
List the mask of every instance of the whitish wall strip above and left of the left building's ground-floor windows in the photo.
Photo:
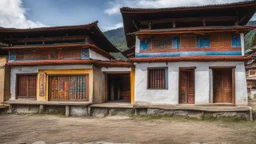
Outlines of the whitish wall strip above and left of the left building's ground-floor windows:
[{"label": "whitish wall strip above and left of the left building's ground-floor windows", "polygon": [[63,70],[63,69],[91,69],[92,65],[61,65],[61,66],[20,66],[11,68],[11,81],[10,81],[10,100],[15,100],[16,93],[16,75],[17,74],[32,74],[38,73],[39,70]]}]

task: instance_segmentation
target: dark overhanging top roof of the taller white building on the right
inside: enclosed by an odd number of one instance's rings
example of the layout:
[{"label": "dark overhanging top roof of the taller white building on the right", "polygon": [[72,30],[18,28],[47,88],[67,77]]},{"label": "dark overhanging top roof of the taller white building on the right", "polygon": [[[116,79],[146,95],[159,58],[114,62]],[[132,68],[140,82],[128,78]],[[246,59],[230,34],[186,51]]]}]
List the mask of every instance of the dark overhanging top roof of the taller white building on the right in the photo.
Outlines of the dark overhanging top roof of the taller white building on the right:
[{"label": "dark overhanging top roof of the taller white building on the right", "polygon": [[[246,25],[256,10],[256,1],[247,1],[230,4],[175,7],[175,8],[121,8],[125,33],[133,33],[140,30],[141,23],[144,21],[158,21],[166,19],[180,18],[211,18],[220,17],[219,21],[212,22],[212,25]],[[224,17],[232,19],[225,20]],[[224,18],[224,19],[221,19]],[[135,45],[135,37],[126,35],[127,46]]]}]

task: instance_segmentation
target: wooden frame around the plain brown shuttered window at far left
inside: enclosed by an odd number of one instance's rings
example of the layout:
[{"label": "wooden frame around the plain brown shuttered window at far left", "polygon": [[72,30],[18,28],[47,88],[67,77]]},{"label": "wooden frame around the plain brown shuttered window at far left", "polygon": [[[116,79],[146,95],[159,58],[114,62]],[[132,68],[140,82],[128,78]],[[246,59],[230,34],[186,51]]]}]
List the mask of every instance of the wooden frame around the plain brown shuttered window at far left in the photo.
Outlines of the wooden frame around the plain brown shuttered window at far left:
[{"label": "wooden frame around the plain brown shuttered window at far left", "polygon": [[[29,98],[27,96],[27,98],[19,98],[18,94],[19,94],[19,87],[18,87],[18,81],[19,81],[19,76],[36,76],[36,95],[35,95],[35,98]],[[37,82],[38,82],[38,78],[37,78],[37,73],[21,73],[21,74],[16,74],[16,86],[15,86],[15,99],[33,99],[33,100],[36,100],[37,99]]]}]

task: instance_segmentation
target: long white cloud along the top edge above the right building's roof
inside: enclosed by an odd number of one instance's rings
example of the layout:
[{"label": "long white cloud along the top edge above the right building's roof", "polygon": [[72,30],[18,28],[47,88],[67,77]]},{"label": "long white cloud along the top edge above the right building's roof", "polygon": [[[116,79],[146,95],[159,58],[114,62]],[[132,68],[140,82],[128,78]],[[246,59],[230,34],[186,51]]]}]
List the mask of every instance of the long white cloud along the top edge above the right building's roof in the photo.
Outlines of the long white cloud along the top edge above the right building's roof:
[{"label": "long white cloud along the top edge above the right building's roof", "polygon": [[166,7],[179,7],[179,6],[197,6],[209,4],[223,4],[240,2],[244,0],[115,0],[109,3],[109,8],[105,10],[108,15],[120,14],[121,7],[133,8],[166,8]]}]

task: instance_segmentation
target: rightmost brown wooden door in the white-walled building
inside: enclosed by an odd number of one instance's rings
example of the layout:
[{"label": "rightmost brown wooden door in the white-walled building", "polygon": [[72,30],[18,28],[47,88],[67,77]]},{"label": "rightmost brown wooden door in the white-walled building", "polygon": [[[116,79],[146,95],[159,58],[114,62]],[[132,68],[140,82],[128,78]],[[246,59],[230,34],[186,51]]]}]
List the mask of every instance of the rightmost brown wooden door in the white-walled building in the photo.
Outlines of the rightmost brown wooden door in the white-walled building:
[{"label": "rightmost brown wooden door in the white-walled building", "polygon": [[232,69],[213,70],[213,102],[232,103]]}]

